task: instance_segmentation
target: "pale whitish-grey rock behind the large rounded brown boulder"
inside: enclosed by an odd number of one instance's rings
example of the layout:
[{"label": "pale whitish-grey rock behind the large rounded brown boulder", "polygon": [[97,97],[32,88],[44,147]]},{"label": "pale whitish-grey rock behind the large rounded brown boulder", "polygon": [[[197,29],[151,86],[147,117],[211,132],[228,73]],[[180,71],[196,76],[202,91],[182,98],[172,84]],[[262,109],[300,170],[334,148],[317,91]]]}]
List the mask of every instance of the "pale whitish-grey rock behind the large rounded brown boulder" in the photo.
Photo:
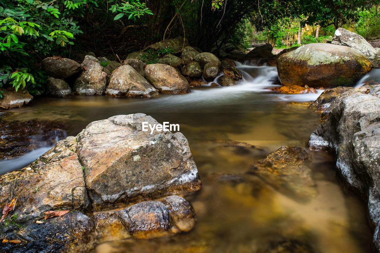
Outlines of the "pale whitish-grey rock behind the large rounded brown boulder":
[{"label": "pale whitish-grey rock behind the large rounded brown boulder", "polygon": [[380,67],[380,49],[375,49],[366,39],[357,33],[350,32],[344,28],[338,28],[331,43],[352,47],[364,54],[371,61],[374,68]]}]

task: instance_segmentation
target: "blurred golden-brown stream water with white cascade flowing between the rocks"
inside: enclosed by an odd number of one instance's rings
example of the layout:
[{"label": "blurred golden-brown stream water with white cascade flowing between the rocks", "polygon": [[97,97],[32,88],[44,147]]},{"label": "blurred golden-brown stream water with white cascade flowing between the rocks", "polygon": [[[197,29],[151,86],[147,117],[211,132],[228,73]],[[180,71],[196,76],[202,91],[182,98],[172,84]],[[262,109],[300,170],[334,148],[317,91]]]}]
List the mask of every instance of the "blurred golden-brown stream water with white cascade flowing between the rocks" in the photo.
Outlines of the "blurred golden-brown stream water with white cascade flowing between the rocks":
[{"label": "blurred golden-brown stream water with white cascade flowing between the rocks", "polygon": [[[171,237],[103,243],[95,252],[370,251],[364,204],[341,186],[331,155],[308,152],[307,166],[318,195],[307,203],[246,174],[255,161],[282,145],[306,149],[310,134],[320,124],[320,114],[287,103],[315,100],[322,90],[318,94],[273,93],[267,88],[274,87],[275,67],[238,63],[237,68],[245,80],[233,87],[205,86],[188,94],[155,98],[37,98],[30,106],[9,110],[18,113],[14,120],[64,121],[69,125],[68,135],[78,134],[94,120],[137,112],[180,125],[203,185],[185,196],[197,213],[195,228]],[[241,147],[230,140],[261,148]],[[22,168],[34,159],[25,155],[0,161],[0,169],[4,173],[9,166]]]}]

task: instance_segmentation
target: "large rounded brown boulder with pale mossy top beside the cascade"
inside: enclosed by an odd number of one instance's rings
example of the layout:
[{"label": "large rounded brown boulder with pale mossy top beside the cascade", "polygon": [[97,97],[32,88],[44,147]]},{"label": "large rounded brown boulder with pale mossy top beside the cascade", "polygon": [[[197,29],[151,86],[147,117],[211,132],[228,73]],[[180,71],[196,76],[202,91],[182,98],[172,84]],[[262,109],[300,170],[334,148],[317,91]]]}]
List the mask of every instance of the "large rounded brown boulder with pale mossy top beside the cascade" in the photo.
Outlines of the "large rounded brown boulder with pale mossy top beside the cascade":
[{"label": "large rounded brown boulder with pale mossy top beside the cascade", "polygon": [[370,70],[363,54],[334,44],[307,44],[281,55],[277,61],[279,79],[285,86],[350,86]]}]

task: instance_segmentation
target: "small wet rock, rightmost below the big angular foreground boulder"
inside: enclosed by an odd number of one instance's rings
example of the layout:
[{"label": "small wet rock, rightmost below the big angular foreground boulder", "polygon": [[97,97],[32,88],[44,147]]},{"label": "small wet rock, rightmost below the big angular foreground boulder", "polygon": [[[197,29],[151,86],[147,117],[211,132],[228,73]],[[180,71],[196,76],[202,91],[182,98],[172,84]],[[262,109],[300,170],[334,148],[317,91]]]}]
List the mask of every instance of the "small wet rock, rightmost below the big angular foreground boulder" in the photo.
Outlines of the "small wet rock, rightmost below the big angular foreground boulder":
[{"label": "small wet rock, rightmost below the big angular foreground boulder", "polygon": [[195,210],[184,198],[173,195],[166,197],[161,202],[168,209],[178,232],[188,232],[194,227]]}]

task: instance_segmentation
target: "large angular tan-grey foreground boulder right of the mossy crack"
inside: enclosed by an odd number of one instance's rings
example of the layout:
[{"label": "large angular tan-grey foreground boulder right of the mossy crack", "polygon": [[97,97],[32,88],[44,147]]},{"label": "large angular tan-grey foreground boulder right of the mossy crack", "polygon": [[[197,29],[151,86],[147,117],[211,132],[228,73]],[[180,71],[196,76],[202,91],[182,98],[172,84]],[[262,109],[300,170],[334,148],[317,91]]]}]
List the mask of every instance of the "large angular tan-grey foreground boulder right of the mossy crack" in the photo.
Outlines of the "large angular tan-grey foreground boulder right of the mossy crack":
[{"label": "large angular tan-grey foreground boulder right of the mossy crack", "polygon": [[157,124],[145,114],[118,115],[92,122],[78,135],[94,210],[200,188],[186,138],[179,132],[141,131],[142,122]]}]

